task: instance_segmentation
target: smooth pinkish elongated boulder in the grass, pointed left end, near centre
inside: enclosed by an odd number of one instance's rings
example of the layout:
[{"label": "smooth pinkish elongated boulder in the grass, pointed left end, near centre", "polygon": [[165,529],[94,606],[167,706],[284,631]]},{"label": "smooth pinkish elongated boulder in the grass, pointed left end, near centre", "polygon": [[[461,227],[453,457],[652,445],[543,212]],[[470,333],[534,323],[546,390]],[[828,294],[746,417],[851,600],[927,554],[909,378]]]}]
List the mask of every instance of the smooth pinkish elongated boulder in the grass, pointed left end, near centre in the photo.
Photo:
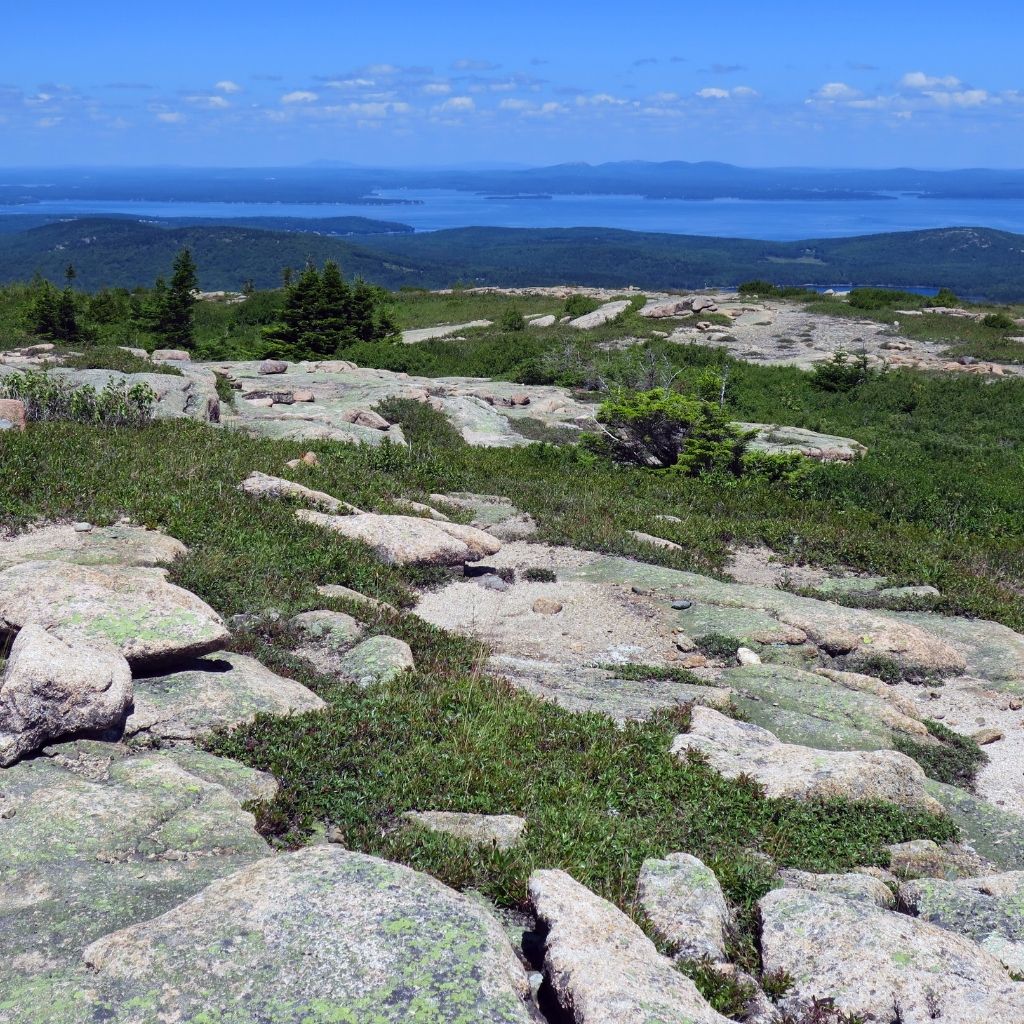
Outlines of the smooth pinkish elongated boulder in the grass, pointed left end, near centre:
[{"label": "smooth pinkish elongated boulder in the grass, pointed left end, near centre", "polygon": [[330,529],[352,541],[360,541],[392,565],[462,565],[501,550],[501,542],[489,534],[408,515],[332,516],[299,509],[296,517],[313,526]]}]

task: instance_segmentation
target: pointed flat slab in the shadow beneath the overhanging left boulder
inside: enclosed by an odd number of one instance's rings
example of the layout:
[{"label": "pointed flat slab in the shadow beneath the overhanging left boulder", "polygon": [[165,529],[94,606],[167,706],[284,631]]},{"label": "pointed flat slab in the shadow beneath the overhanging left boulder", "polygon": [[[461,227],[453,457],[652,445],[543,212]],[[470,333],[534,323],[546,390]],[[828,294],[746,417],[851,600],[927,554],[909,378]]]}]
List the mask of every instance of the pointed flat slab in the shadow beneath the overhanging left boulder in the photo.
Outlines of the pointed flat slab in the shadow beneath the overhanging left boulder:
[{"label": "pointed flat slab in the shadow beneath the overhanging left boulder", "polygon": [[324,701],[294,679],[278,676],[245,654],[195,658],[175,672],[135,680],[135,710],[125,735],[153,740],[194,739],[259,714],[319,711]]}]

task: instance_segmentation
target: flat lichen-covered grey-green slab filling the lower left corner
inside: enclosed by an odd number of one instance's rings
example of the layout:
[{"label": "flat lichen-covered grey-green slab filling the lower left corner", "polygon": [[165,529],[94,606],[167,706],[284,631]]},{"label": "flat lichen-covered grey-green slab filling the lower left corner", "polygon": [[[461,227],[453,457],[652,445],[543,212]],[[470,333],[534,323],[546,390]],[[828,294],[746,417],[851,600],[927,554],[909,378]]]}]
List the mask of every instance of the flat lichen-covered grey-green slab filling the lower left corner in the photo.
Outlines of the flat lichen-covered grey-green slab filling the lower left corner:
[{"label": "flat lichen-covered grey-green slab filling the lower left corner", "polygon": [[47,754],[0,770],[0,1008],[33,1024],[82,1019],[89,942],[268,852],[240,804],[259,792],[251,769],[205,755],[198,774],[95,741]]}]

